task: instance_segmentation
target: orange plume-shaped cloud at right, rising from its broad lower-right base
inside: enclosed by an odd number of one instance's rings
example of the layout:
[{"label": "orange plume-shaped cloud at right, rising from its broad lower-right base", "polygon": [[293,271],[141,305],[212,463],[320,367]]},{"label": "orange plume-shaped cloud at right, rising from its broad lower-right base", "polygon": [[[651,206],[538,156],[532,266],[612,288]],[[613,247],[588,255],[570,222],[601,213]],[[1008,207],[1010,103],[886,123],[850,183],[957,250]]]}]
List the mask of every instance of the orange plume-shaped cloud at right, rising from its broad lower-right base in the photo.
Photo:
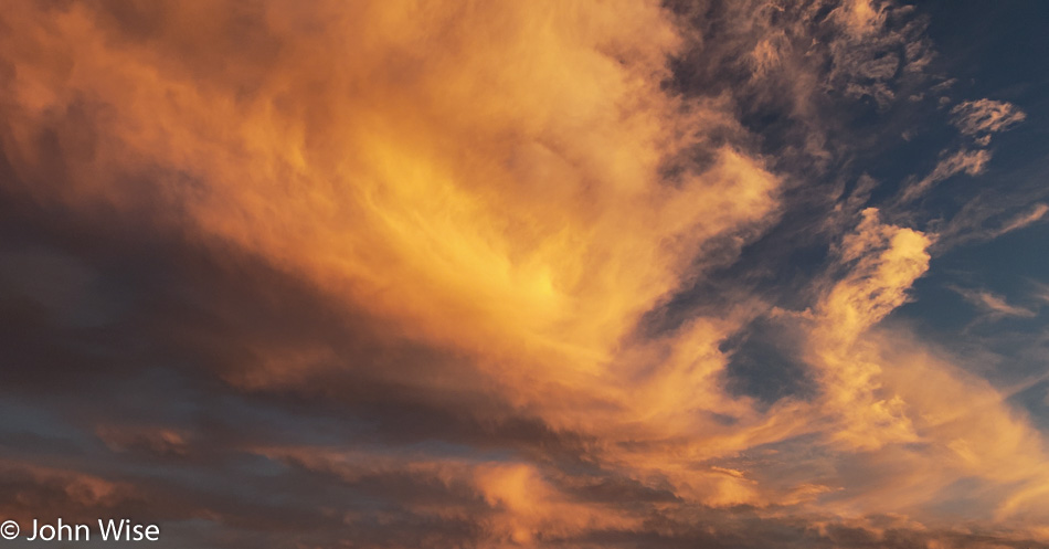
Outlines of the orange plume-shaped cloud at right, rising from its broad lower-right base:
[{"label": "orange plume-shaped cloud at right, rising from its broad lower-right base", "polygon": [[951,486],[967,479],[981,486],[966,496],[979,500],[969,509],[974,517],[1011,520],[1020,531],[1041,516],[1049,489],[1040,434],[988,382],[960,368],[960,359],[878,327],[928,268],[931,243],[868,209],[840,249],[848,273],[812,317],[809,360],[824,391],[817,413],[838,418],[825,436],[856,454],[839,458],[859,460],[877,478],[833,481],[843,492],[825,508],[845,516],[912,513],[934,522],[924,509],[957,497]]}]

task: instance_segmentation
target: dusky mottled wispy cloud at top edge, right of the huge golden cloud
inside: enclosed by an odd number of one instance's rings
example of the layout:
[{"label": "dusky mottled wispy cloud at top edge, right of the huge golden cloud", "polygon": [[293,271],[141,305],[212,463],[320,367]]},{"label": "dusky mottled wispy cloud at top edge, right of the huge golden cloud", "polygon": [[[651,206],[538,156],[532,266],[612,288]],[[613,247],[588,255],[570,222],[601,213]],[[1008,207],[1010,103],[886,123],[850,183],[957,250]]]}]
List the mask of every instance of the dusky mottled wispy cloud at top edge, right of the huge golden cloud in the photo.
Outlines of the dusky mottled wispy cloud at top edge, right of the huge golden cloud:
[{"label": "dusky mottled wispy cloud at top edge, right of the huge golden cloud", "polygon": [[799,177],[847,158],[843,120],[924,88],[935,56],[924,18],[896,2],[668,6],[692,27],[671,83],[688,96],[728,102],[776,151],[773,167]]}]

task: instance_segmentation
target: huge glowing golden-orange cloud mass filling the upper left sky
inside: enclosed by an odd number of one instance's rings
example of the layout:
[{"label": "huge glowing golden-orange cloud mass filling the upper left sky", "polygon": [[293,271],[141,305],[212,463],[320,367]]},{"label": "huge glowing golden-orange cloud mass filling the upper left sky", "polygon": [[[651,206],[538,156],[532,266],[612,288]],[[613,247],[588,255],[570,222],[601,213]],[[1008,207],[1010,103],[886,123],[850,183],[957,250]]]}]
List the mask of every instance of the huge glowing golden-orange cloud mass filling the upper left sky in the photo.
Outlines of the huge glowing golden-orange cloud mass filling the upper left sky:
[{"label": "huge glowing golden-orange cloud mass filling the upper left sky", "polygon": [[[720,115],[660,89],[679,40],[657,8],[433,7],[426,25],[395,7],[211,10],[11,13],[24,31],[9,51],[59,60],[11,60],[32,66],[9,86],[4,134],[32,181],[21,191],[179,212],[168,222],[305,274],[415,337],[509,355],[520,341],[600,355],[675,288],[700,243],[774,207],[775,178],[731,147],[660,182],[695,145],[686,128]],[[120,17],[160,18],[166,41],[136,41]],[[258,50],[222,39],[236,18],[263,29]],[[360,31],[363,20],[390,32]],[[346,53],[332,70],[319,51]],[[60,179],[50,154],[65,159]]]}]

